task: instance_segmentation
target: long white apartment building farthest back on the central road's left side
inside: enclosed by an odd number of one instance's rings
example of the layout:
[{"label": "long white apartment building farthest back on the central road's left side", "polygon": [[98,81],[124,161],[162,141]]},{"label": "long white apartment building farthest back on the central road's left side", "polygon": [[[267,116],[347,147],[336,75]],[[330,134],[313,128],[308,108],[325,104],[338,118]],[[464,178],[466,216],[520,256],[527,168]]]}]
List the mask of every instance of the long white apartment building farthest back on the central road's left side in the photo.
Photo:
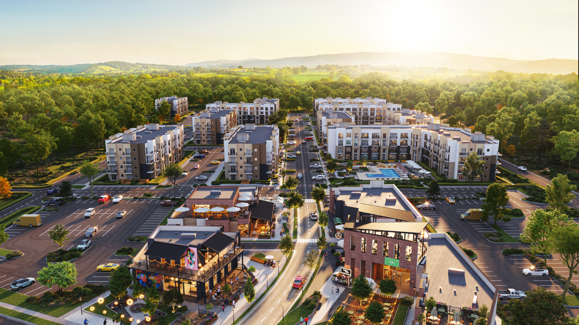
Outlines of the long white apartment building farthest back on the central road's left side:
[{"label": "long white apartment building farthest back on the central road's left side", "polygon": [[217,101],[205,105],[207,110],[212,108],[230,109],[237,112],[237,124],[267,124],[269,116],[280,109],[280,99],[256,98],[252,103],[230,103]]}]

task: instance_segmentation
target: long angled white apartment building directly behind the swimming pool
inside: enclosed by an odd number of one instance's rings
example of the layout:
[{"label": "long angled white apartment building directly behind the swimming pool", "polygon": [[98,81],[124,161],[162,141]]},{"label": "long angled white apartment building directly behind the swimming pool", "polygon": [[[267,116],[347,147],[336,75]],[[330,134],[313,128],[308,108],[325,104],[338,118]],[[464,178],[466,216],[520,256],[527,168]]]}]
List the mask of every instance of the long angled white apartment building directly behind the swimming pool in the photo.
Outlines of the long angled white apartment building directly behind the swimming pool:
[{"label": "long angled white apartment building directly behind the swimming pool", "polygon": [[464,180],[462,168],[475,152],[485,162],[478,180],[494,180],[499,141],[448,124],[327,125],[324,151],[338,160],[422,161],[439,174]]}]

